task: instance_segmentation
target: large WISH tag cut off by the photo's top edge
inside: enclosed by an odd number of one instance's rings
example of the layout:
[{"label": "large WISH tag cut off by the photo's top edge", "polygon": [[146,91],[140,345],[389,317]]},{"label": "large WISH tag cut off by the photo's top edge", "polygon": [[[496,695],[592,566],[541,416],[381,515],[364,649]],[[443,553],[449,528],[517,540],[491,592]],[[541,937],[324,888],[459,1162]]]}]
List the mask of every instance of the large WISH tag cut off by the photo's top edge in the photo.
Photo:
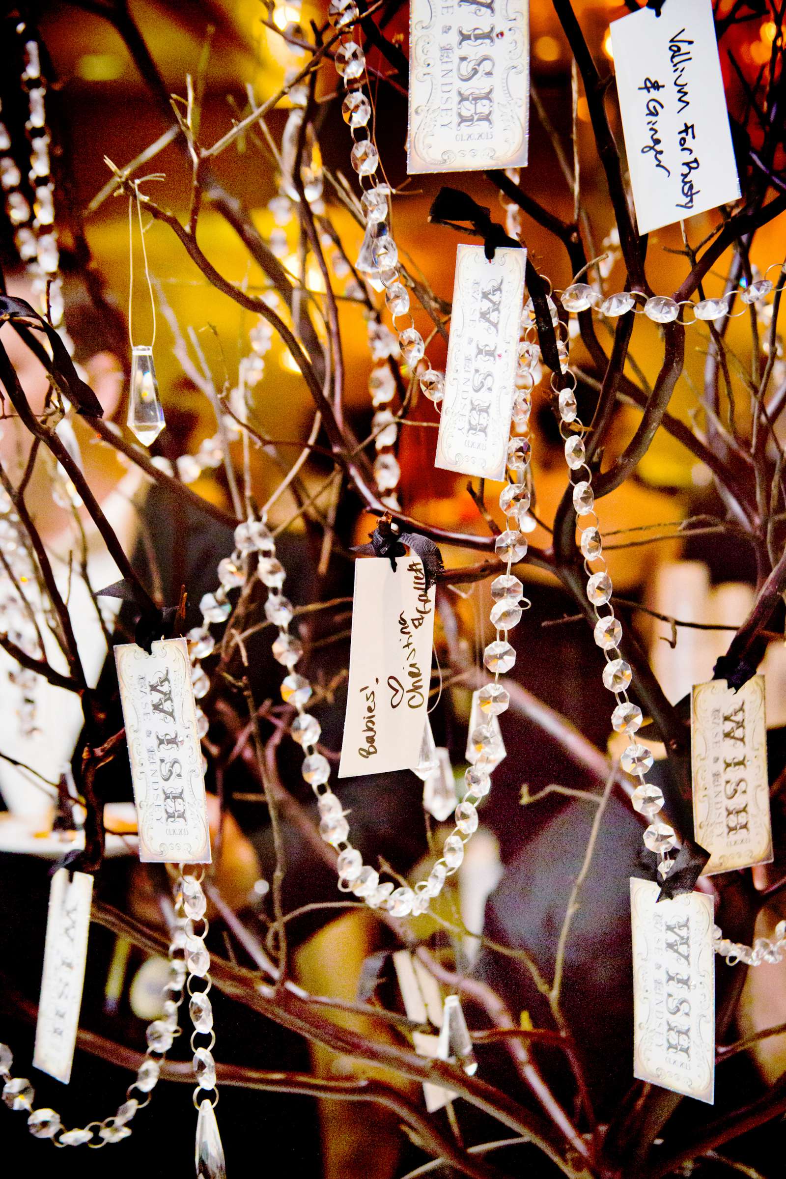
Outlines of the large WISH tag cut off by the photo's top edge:
[{"label": "large WISH tag cut off by the photo's top edge", "polygon": [[528,0],[411,0],[407,171],[523,167]]}]

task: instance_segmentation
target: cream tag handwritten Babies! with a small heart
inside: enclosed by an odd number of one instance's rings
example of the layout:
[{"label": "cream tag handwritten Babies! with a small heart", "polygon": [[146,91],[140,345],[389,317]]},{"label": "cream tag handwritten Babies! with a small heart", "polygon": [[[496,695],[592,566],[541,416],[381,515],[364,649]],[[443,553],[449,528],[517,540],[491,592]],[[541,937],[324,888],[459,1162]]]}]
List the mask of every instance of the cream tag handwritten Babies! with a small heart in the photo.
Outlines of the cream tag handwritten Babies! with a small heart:
[{"label": "cream tag handwritten Babies! with a small heart", "polygon": [[346,717],[338,777],[417,765],[431,680],[434,598],[420,556],[355,562]]}]

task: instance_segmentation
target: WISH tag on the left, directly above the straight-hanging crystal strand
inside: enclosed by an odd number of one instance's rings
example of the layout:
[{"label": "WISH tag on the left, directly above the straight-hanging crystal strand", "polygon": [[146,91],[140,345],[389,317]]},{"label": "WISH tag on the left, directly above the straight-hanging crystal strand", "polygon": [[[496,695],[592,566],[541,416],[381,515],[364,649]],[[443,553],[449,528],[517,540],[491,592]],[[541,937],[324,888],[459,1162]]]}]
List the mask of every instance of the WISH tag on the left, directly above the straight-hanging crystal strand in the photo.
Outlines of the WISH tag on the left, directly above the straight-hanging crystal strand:
[{"label": "WISH tag on the left, directly above the straight-hanging crystal strand", "polygon": [[202,749],[185,639],[114,648],[143,863],[210,863]]}]

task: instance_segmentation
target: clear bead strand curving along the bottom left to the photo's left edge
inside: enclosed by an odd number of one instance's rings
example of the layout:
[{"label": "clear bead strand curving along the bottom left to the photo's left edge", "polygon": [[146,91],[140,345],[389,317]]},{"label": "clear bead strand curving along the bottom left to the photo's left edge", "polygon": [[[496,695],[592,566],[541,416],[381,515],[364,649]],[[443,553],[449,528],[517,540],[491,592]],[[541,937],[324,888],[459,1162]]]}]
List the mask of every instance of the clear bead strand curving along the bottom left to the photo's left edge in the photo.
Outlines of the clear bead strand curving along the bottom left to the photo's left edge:
[{"label": "clear bead strand curving along the bottom left to the photo's left edge", "polygon": [[106,1146],[120,1142],[131,1134],[128,1125],[151,1101],[159,1078],[161,1061],[179,1035],[178,1014],[183,1002],[186,979],[186,921],[174,917],[169,948],[170,977],[164,988],[164,1012],[147,1026],[147,1050],[137,1069],[137,1076],[126,1089],[125,1101],[115,1113],[103,1121],[91,1121],[85,1127],[66,1129],[55,1109],[33,1108],[35,1091],[26,1076],[13,1076],[11,1048],[0,1043],[0,1080],[2,1100],[9,1109],[27,1114],[27,1126],[35,1138],[48,1138],[55,1146]]}]

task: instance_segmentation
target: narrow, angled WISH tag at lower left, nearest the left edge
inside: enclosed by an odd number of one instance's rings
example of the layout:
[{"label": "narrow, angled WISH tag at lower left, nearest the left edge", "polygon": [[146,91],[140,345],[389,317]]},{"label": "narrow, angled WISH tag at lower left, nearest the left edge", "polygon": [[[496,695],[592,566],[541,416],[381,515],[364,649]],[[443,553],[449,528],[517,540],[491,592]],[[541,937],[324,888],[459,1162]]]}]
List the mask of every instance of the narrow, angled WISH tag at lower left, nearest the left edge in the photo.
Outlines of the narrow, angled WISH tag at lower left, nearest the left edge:
[{"label": "narrow, angled WISH tag at lower left, nearest the left edge", "polygon": [[58,869],[49,888],[33,1066],[64,1085],[77,1046],[92,900],[92,876]]}]

